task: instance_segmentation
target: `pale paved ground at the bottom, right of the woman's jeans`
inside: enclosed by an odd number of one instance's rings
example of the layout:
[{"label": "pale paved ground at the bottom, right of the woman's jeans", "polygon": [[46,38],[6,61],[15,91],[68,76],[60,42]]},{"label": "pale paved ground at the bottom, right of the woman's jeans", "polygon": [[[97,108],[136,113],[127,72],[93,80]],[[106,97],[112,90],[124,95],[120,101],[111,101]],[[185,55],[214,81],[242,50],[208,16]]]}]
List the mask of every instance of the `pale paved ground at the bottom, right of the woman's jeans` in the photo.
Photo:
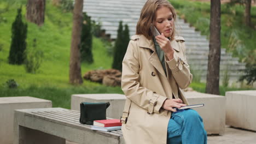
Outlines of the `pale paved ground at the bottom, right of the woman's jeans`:
[{"label": "pale paved ground at the bottom, right of the woman's jeans", "polygon": [[[208,136],[208,144],[256,144],[256,132],[226,126],[223,136]],[[77,144],[66,141],[66,144]]]}]

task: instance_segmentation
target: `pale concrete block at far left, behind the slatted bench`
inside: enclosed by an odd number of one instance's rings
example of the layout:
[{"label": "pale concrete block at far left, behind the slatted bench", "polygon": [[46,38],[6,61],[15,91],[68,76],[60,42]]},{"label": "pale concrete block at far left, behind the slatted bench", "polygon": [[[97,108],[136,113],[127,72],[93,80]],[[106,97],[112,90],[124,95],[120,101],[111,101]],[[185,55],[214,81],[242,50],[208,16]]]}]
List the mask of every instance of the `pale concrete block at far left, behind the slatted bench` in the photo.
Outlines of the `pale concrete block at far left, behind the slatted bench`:
[{"label": "pale concrete block at far left, behind the slatted bench", "polygon": [[51,101],[33,97],[0,98],[0,143],[13,144],[14,110],[51,107]]}]

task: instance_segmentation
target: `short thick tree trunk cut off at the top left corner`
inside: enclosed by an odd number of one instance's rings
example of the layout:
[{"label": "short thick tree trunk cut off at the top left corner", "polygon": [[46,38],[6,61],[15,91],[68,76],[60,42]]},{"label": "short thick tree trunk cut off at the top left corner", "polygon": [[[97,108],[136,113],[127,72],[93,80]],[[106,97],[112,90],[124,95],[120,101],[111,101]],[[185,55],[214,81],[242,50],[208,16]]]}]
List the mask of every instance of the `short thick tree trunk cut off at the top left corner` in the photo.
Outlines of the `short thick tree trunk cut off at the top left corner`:
[{"label": "short thick tree trunk cut off at the top left corner", "polygon": [[38,26],[44,24],[45,0],[27,0],[28,21],[36,23]]}]

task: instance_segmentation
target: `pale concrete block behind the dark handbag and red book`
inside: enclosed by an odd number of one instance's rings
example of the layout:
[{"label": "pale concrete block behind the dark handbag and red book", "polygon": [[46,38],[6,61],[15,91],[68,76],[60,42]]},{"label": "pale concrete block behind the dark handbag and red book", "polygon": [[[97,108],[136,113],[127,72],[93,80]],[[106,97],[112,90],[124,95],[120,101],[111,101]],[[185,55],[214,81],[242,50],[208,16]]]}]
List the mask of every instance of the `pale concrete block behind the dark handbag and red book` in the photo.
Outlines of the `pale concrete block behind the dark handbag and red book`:
[{"label": "pale concrete block behind the dark handbag and red book", "polygon": [[80,103],[82,102],[109,102],[107,117],[119,119],[124,109],[125,99],[124,94],[73,94],[71,96],[71,110],[80,111]]}]

